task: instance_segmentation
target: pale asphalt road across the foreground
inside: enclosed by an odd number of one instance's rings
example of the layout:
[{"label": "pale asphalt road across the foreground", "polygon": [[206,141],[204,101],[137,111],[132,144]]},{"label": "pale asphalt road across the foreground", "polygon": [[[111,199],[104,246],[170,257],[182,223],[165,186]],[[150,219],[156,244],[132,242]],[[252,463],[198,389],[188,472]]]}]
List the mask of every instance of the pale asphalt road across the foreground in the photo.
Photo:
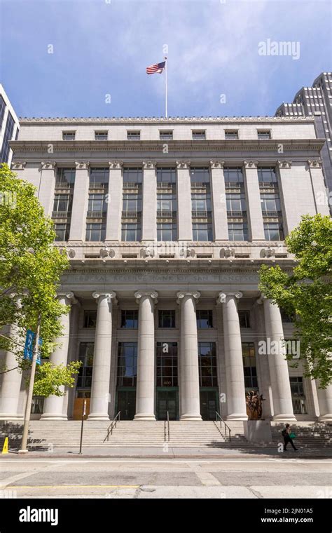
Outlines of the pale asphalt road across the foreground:
[{"label": "pale asphalt road across the foreground", "polygon": [[332,498],[328,459],[0,459],[0,497]]}]

